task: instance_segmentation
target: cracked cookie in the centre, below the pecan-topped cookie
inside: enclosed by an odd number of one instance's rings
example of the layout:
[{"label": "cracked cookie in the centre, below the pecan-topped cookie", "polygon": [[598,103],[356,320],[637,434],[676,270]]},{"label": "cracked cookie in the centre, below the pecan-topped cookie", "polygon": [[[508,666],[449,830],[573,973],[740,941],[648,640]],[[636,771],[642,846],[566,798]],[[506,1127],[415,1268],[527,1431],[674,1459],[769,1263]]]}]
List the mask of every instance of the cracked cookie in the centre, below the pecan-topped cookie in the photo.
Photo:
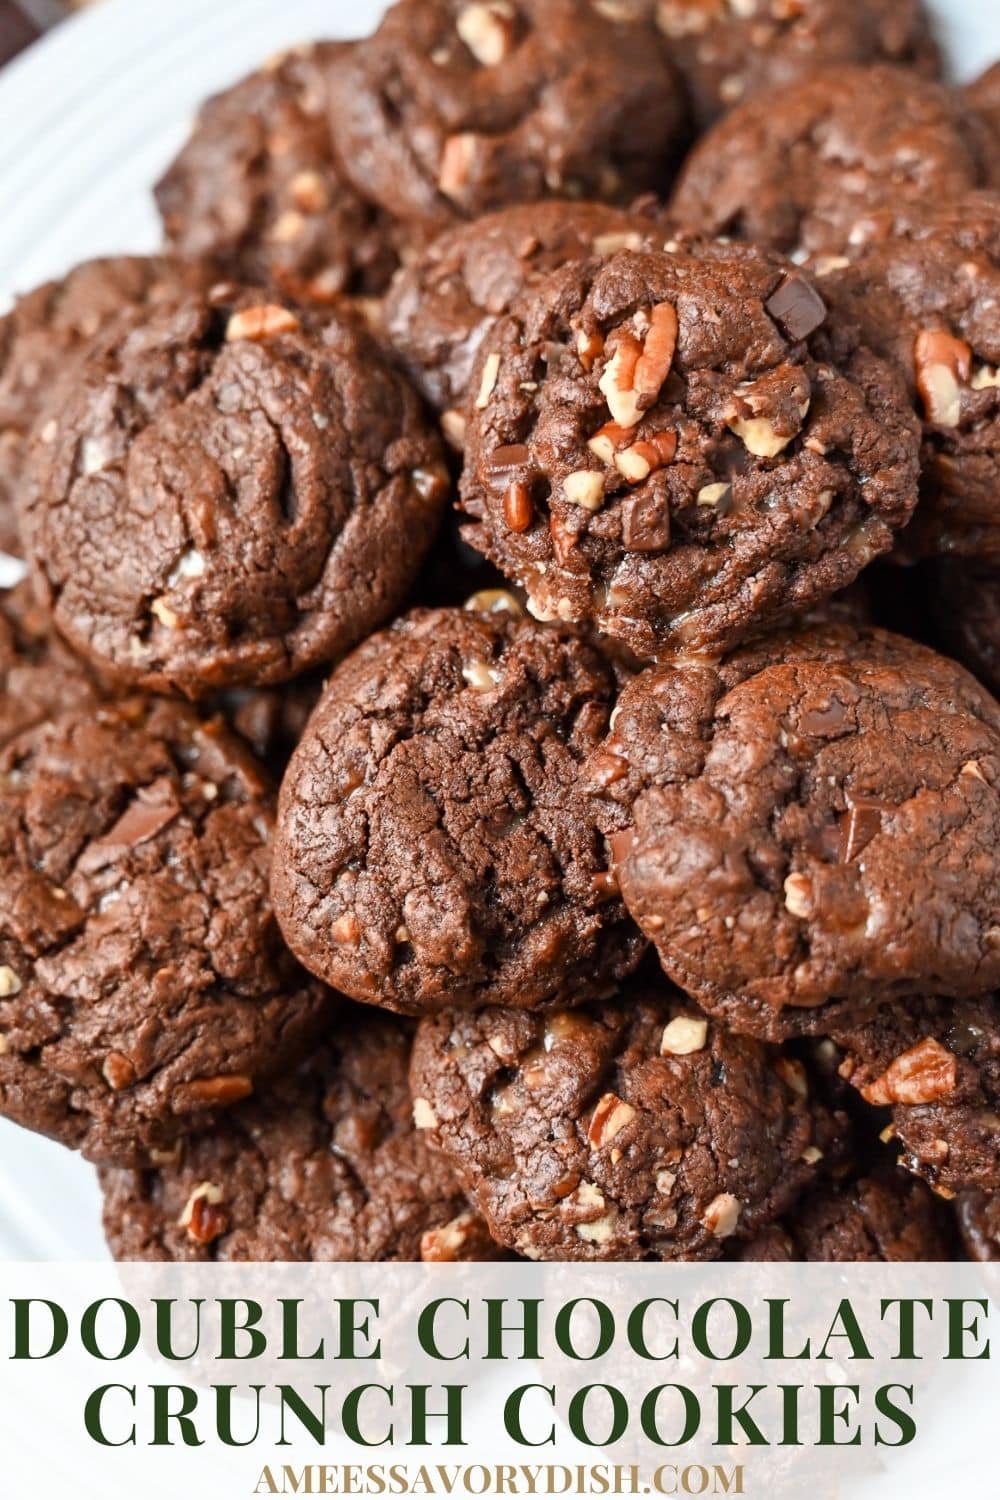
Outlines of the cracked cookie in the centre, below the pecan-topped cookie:
[{"label": "cracked cookie in the centre, below the pecan-topped cookie", "polygon": [[613,990],[645,948],[582,780],[613,698],[591,645],[510,609],[414,610],[366,640],[282,783],[292,951],[408,1014]]}]

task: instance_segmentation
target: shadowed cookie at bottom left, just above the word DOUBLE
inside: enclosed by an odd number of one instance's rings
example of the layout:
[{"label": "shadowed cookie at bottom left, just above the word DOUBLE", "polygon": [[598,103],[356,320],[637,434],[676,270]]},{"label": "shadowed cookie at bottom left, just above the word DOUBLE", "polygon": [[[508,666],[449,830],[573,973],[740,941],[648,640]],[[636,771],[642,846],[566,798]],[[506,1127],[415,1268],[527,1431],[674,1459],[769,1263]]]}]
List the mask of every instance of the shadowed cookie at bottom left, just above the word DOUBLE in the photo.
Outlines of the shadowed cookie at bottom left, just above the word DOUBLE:
[{"label": "shadowed cookie at bottom left, just above the word DOUBLE", "polygon": [[489,1260],[451,1168],[414,1128],[409,1032],[348,1010],[297,1072],[181,1142],[105,1170],[115,1260]]}]

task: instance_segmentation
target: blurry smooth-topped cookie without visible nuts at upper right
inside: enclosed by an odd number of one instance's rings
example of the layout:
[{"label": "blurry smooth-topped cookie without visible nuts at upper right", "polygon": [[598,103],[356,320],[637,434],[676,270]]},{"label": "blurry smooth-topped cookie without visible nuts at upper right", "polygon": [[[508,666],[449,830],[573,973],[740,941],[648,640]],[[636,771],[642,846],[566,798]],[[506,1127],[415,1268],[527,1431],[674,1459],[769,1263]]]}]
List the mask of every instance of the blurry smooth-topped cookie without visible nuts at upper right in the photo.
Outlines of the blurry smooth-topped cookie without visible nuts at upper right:
[{"label": "blurry smooth-topped cookie without visible nuts at upper right", "polygon": [[927,202],[997,182],[988,128],[943,84],[837,68],[762,94],[688,156],[672,218],[786,252],[843,255]]}]

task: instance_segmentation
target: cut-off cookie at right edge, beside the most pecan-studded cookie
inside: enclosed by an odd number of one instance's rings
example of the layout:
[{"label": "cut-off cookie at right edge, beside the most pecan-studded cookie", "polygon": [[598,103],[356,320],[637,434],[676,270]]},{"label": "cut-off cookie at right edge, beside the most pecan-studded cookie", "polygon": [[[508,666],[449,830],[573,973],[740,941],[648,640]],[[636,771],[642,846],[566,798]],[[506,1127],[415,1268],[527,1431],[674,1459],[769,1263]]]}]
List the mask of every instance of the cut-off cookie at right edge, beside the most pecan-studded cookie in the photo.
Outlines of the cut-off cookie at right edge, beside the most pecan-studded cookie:
[{"label": "cut-off cookie at right edge, beside the most pecan-studded cookie", "polygon": [[903,369],[924,418],[921,504],[900,549],[1000,566],[1000,194],[927,210],[822,291]]}]

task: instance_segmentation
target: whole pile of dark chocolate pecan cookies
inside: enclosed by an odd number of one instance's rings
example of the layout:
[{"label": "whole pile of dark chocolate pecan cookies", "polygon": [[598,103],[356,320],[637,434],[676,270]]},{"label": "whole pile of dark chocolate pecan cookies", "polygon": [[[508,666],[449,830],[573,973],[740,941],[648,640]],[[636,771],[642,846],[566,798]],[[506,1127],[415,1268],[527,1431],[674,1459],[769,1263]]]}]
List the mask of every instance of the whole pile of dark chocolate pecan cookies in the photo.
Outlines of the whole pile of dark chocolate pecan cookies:
[{"label": "whole pile of dark chocolate pecan cookies", "polygon": [[0,1110],[115,1256],[1000,1257],[940,74],[919,0],[402,0],[0,324]]}]

